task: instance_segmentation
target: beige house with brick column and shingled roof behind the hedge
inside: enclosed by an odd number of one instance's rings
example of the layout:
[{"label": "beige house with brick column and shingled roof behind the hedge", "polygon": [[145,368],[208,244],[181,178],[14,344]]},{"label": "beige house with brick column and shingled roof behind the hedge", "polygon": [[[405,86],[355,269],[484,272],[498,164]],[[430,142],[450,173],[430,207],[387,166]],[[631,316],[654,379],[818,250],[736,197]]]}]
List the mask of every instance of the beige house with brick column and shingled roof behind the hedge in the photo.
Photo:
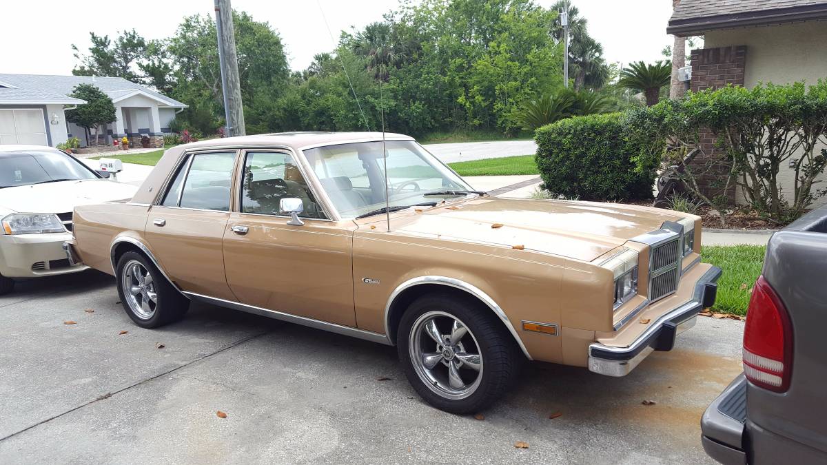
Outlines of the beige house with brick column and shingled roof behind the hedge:
[{"label": "beige house with brick column and shingled roof behind the hedge", "polygon": [[[680,0],[667,33],[704,36],[704,48],[691,51],[693,91],[726,84],[815,84],[827,79],[825,20],[825,1]],[[711,137],[704,142],[705,152],[715,151]],[[793,170],[782,167],[782,189],[790,191],[793,178]],[[735,196],[734,190],[728,194]]]}]

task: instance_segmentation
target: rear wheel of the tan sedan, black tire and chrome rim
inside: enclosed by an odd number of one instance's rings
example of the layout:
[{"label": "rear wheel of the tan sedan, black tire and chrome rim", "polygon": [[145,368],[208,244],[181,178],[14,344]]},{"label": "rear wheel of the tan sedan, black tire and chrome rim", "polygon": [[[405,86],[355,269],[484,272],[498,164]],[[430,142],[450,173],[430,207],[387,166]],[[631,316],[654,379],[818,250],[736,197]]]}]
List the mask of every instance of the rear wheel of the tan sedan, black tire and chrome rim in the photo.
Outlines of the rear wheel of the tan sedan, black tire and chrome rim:
[{"label": "rear wheel of the tan sedan, black tire and chrome rim", "polygon": [[115,276],[123,309],[141,328],[173,323],[189,309],[189,300],[140,253],[124,253],[117,261]]}]

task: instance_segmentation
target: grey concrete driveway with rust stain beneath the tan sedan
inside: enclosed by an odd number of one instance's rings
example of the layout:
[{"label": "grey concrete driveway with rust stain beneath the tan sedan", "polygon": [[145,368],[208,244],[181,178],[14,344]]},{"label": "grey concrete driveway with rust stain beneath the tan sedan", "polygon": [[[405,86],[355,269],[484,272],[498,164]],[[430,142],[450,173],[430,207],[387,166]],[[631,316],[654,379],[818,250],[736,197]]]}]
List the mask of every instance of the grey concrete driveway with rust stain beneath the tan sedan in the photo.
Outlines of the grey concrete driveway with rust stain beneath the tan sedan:
[{"label": "grey concrete driveway with rust stain beneath the tan sedan", "polygon": [[711,463],[700,415],[740,372],[743,323],[701,318],[625,378],[529,364],[478,420],[395,348],[206,305],[146,330],[117,300],[93,271],[0,297],[3,463]]}]

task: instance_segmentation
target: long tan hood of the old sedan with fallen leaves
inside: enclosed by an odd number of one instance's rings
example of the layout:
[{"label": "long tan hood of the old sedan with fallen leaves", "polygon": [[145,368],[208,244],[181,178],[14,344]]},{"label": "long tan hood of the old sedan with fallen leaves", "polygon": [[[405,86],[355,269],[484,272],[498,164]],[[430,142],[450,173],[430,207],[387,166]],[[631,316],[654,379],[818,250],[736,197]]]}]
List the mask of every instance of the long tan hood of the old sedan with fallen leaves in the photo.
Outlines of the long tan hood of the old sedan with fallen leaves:
[{"label": "long tan hood of the old sedan with fallen leaves", "polygon": [[394,230],[592,261],[680,218],[670,210],[635,205],[486,197],[397,217]]}]

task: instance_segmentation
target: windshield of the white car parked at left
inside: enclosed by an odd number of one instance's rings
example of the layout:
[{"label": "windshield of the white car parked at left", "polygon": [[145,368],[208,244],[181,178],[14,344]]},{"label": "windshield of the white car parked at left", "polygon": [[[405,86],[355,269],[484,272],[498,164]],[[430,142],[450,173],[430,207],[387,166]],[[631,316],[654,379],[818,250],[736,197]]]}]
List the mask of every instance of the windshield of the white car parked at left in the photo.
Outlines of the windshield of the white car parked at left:
[{"label": "windshield of the white car parked at left", "polygon": [[0,189],[65,180],[98,179],[93,170],[62,151],[0,153]]}]

